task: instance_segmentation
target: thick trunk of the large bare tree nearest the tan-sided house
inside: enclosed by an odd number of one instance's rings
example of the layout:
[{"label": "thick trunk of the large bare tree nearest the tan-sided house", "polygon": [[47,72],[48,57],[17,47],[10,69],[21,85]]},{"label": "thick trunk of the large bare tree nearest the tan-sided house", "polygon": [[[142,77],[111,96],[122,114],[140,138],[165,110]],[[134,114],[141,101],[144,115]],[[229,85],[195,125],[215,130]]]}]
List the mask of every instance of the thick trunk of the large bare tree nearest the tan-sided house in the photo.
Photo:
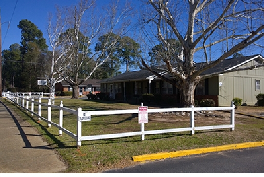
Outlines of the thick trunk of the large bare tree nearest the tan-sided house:
[{"label": "thick trunk of the large bare tree nearest the tan-sided house", "polygon": [[193,81],[189,78],[181,82],[179,87],[181,107],[194,105],[194,91],[198,83],[198,80]]}]

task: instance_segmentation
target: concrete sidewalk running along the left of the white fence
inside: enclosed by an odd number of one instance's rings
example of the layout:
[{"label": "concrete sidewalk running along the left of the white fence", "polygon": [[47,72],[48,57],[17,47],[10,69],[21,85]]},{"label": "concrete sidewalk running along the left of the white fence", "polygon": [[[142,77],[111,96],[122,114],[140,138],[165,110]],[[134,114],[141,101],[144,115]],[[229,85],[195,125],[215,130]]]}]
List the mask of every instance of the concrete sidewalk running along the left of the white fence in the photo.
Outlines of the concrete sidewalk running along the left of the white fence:
[{"label": "concrete sidewalk running along the left of the white fence", "polygon": [[0,98],[0,173],[60,173],[67,169],[41,135]]}]

